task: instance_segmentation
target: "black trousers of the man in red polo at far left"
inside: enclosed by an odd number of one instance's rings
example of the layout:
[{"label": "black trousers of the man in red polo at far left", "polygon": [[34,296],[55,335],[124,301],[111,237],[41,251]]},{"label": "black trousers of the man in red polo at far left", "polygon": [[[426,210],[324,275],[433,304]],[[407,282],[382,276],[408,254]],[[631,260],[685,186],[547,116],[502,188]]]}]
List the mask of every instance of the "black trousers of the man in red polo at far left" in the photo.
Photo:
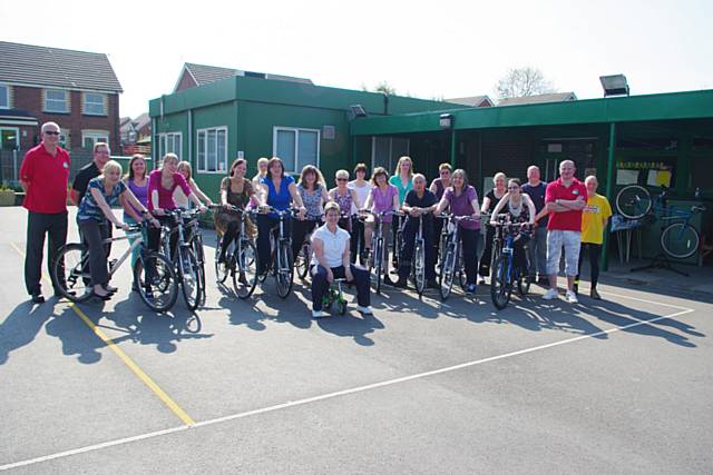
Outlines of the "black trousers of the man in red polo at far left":
[{"label": "black trousers of the man in red polo at far left", "polygon": [[[27,244],[25,248],[25,286],[28,294],[39,294],[42,289],[42,248],[47,241],[47,269],[51,275],[52,263],[57,259],[57,251],[67,243],[67,211],[45,214],[29,211],[27,217]],[[65,280],[64,268],[57,277]],[[55,289],[57,291],[57,289]]]}]

